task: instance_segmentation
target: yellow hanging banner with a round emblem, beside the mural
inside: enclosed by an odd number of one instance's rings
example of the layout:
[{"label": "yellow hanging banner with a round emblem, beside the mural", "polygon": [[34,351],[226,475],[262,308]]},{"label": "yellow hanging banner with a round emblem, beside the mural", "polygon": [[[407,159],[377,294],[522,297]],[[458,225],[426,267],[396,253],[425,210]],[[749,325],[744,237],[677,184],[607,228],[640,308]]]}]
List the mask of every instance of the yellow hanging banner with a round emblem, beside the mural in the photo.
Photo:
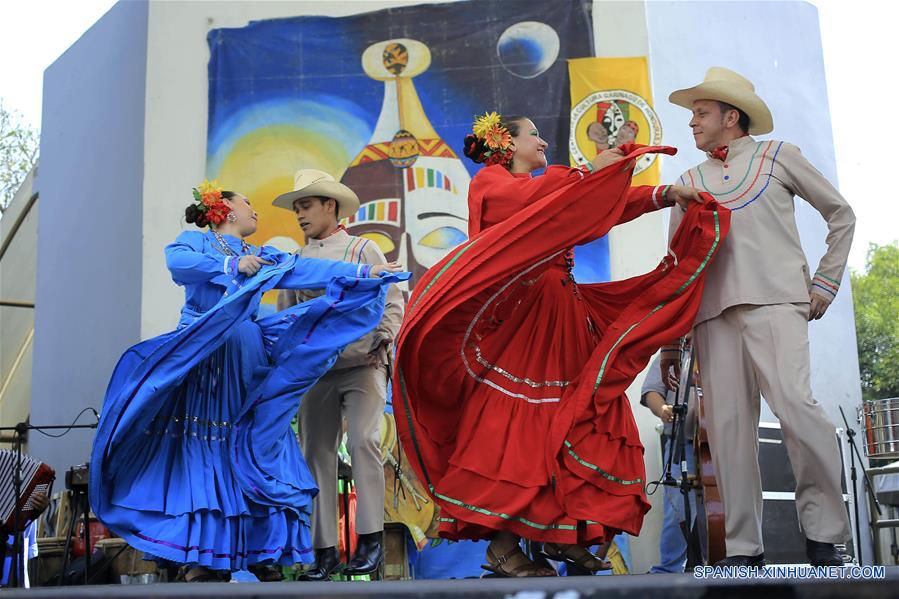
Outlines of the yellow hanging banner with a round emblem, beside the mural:
[{"label": "yellow hanging banner with a round emblem, beside the mural", "polygon": [[[589,162],[600,151],[623,143],[659,145],[662,124],[652,109],[649,61],[633,58],[575,58],[571,80],[572,166]],[[658,185],[659,160],[643,156],[634,168],[634,185]]]}]

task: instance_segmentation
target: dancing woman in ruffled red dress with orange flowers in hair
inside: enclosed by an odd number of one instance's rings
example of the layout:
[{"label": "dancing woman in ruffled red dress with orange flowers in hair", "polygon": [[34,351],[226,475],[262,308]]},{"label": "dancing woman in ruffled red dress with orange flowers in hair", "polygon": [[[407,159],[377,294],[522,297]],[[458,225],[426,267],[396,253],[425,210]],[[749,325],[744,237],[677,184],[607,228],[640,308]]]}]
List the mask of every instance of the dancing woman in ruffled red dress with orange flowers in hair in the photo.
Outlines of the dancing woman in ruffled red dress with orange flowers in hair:
[{"label": "dancing woman in ruffled red dress with orange flowers in hair", "polygon": [[[489,166],[469,188],[469,240],[409,300],[394,369],[400,438],[440,505],[440,536],[491,539],[485,569],[553,575],[520,550],[525,537],[598,570],[586,547],[638,534],[649,510],[624,391],[692,325],[730,213],[691,188],[630,186],[637,157],[674,148],[622,146],[532,177],[546,142],[529,119],[495,113],[465,146]],[[573,246],[674,203],[683,224],[655,270],[575,282]]]}]

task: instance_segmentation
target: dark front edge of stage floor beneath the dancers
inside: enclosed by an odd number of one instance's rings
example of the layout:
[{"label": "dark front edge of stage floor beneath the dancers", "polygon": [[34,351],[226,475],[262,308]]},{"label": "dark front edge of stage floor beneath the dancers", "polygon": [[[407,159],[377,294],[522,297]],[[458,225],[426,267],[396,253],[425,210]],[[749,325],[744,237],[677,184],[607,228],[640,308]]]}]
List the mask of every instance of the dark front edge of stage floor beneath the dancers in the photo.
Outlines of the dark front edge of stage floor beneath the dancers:
[{"label": "dark front edge of stage floor beneath the dancers", "polygon": [[692,574],[644,574],[555,579],[415,580],[391,582],[167,583],[91,587],[40,587],[3,591],[4,599],[103,599],[128,597],[456,597],[497,599],[742,599],[850,598],[899,596],[899,567],[881,580],[698,580]]}]

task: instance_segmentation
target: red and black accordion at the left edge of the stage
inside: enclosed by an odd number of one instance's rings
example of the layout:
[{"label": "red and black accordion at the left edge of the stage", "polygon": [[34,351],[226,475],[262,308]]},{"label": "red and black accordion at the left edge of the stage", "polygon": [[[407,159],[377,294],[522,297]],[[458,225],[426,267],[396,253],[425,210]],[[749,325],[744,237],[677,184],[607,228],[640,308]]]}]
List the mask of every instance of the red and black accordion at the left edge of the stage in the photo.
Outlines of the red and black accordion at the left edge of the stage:
[{"label": "red and black accordion at the left edge of the stage", "polygon": [[50,494],[56,472],[50,466],[27,455],[22,455],[22,478],[20,494],[15,497],[16,452],[0,449],[0,527],[14,532],[15,509],[19,506],[19,530],[34,520],[35,513],[32,498],[39,494]]}]

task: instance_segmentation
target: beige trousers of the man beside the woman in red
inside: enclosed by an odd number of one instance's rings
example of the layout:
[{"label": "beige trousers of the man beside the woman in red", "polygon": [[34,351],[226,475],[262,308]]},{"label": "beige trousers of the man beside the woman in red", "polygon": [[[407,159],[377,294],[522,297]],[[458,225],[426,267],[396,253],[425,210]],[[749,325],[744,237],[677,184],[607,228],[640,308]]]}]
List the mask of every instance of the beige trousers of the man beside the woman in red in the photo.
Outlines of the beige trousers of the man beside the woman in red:
[{"label": "beige trousers of the man beside the woman in red", "polygon": [[808,310],[804,303],[734,306],[694,330],[728,556],[764,551],[759,392],[780,420],[806,537],[843,543],[850,535],[835,429],[812,397]]}]

